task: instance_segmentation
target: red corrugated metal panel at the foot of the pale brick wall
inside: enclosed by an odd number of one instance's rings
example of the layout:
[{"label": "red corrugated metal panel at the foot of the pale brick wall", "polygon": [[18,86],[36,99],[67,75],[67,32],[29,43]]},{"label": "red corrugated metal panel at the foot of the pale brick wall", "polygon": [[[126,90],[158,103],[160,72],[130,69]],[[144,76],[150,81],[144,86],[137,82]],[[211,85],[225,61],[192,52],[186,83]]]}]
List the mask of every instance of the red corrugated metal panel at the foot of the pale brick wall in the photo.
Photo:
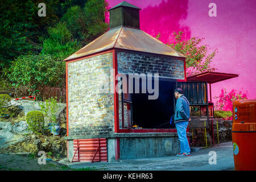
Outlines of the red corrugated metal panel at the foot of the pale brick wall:
[{"label": "red corrugated metal panel at the foot of the pale brick wall", "polygon": [[106,138],[75,139],[73,146],[72,162],[108,162]]}]

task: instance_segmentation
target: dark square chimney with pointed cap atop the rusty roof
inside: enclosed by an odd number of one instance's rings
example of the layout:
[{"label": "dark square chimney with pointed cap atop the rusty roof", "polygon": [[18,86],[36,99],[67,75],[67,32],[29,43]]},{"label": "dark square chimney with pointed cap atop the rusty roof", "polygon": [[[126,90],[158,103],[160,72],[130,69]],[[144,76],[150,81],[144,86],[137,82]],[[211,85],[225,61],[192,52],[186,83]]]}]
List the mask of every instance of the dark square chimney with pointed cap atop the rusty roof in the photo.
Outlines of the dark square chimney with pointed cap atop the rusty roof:
[{"label": "dark square chimney with pointed cap atop the rusty roof", "polygon": [[112,7],[109,9],[110,28],[119,26],[139,28],[139,10],[141,10],[139,7],[126,1]]}]

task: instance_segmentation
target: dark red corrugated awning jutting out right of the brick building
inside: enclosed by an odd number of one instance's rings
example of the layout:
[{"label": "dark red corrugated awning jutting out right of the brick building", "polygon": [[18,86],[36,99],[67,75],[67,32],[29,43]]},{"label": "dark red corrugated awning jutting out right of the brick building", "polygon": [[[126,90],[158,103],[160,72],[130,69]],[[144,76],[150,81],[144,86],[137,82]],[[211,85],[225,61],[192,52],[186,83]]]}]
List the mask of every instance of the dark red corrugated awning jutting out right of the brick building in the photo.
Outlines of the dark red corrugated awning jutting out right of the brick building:
[{"label": "dark red corrugated awning jutting out right of the brick building", "polygon": [[228,80],[230,78],[238,77],[237,74],[221,73],[221,72],[204,72],[197,75],[187,77],[187,81],[203,81],[209,84],[214,84],[219,81]]}]

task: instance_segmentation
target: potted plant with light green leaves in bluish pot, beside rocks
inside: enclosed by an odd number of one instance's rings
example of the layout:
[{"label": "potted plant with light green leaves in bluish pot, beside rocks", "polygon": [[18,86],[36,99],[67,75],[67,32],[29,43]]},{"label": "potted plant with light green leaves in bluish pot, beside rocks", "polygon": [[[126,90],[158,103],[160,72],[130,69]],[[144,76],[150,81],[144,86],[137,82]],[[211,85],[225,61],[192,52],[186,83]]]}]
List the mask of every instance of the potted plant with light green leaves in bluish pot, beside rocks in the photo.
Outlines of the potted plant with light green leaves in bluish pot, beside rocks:
[{"label": "potted plant with light green leaves in bluish pot, beside rocks", "polygon": [[48,121],[48,129],[53,135],[59,135],[60,126],[57,122],[56,113],[58,110],[56,97],[49,98],[46,102],[39,103],[41,110],[44,114],[44,117]]}]

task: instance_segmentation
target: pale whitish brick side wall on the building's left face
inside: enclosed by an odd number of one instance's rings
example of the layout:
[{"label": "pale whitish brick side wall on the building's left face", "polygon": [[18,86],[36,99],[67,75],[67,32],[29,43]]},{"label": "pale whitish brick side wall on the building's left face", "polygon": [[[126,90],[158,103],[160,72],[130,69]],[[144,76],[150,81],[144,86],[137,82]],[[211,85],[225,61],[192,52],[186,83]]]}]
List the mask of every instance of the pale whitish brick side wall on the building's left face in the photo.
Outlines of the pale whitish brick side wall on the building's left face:
[{"label": "pale whitish brick side wall on the building's left face", "polygon": [[[110,92],[112,68],[111,52],[68,63],[69,136],[114,131],[114,97]],[[109,79],[103,78],[104,75]],[[105,84],[109,92],[99,92]]]}]

